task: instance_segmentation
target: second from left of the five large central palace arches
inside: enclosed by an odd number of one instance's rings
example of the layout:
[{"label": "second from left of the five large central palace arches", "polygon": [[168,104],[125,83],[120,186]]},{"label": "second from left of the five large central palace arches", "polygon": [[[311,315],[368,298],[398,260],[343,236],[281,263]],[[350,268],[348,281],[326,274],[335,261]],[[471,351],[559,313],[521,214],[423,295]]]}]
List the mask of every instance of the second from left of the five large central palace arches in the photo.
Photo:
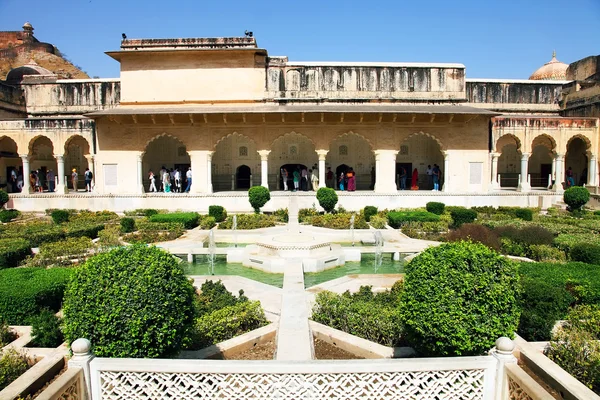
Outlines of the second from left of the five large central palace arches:
[{"label": "second from left of the five large central palace arches", "polygon": [[[253,182],[260,183],[260,155],[256,144],[247,136],[232,133],[222,138],[215,146],[212,156],[212,185],[213,191],[229,191],[240,189],[238,184],[238,170],[245,166],[254,171]],[[248,175],[244,180],[244,188],[249,186],[249,173],[244,169],[243,175]]]}]

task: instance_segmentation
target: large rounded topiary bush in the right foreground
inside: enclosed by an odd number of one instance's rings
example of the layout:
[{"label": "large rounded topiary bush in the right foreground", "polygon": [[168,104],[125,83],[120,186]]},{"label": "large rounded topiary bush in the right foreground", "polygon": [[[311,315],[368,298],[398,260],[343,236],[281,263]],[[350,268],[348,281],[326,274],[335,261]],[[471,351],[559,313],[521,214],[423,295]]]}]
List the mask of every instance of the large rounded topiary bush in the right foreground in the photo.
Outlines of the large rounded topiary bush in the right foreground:
[{"label": "large rounded topiary bush in the right foreground", "polygon": [[480,355],[512,337],[521,310],[517,267],[478,243],[430,247],[406,266],[402,322],[426,356]]}]

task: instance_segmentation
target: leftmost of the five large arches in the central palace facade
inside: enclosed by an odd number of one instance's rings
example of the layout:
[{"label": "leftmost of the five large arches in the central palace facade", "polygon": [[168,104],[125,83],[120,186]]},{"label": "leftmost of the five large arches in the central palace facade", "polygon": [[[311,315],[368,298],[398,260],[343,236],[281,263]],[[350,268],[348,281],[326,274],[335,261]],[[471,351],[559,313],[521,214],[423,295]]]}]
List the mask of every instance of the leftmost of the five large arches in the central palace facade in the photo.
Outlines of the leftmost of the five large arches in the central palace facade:
[{"label": "leftmost of the five large arches in the central palace facade", "polygon": [[177,192],[181,190],[183,192],[187,185],[185,175],[190,166],[190,156],[183,142],[174,136],[158,136],[148,143],[142,157],[142,181],[144,189],[146,192],[149,191],[150,171],[154,173],[156,189],[163,192],[165,191],[165,187],[162,184],[163,177],[160,176],[160,171],[167,171],[170,176],[175,176],[175,172],[179,171],[181,177],[180,186],[177,187],[175,180],[170,179],[171,191]]}]

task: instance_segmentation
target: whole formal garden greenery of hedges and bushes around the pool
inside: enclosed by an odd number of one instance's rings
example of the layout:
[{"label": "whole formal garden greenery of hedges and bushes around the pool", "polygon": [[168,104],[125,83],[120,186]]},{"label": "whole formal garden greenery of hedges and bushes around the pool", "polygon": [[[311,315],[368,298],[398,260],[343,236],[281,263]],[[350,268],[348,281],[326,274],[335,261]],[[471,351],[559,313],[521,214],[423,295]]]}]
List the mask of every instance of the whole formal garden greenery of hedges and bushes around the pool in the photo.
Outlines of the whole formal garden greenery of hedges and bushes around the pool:
[{"label": "whole formal garden greenery of hedges and bushes around the pool", "polygon": [[[180,259],[149,246],[191,230],[284,226],[288,210],[261,213],[268,190],[256,192],[254,214],[218,205],[205,215],[2,209],[1,346],[16,339],[9,326],[31,325],[30,347],[85,337],[96,356],[168,358],[268,325],[260,302],[220,281],[194,287]],[[321,291],[311,319],[383,346],[411,347],[418,357],[483,355],[516,332],[549,342],[545,354],[600,393],[600,212],[584,208],[588,199],[575,187],[565,192],[566,210],[432,202],[351,212],[336,208],[333,190],[320,189],[320,207],[298,210],[300,224],[395,230],[443,243],[406,263],[387,291]],[[9,348],[1,357],[0,390],[36,361]]]}]

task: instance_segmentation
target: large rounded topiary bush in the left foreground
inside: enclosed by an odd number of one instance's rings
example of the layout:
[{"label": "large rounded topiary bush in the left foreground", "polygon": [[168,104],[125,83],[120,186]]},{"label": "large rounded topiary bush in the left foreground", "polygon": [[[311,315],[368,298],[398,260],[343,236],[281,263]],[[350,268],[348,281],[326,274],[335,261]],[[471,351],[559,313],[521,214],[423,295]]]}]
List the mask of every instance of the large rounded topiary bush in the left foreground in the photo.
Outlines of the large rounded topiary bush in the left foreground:
[{"label": "large rounded topiary bush in the left foreground", "polygon": [[64,333],[99,357],[176,354],[193,323],[194,287],[175,258],[134,245],[90,258],[65,292]]}]

